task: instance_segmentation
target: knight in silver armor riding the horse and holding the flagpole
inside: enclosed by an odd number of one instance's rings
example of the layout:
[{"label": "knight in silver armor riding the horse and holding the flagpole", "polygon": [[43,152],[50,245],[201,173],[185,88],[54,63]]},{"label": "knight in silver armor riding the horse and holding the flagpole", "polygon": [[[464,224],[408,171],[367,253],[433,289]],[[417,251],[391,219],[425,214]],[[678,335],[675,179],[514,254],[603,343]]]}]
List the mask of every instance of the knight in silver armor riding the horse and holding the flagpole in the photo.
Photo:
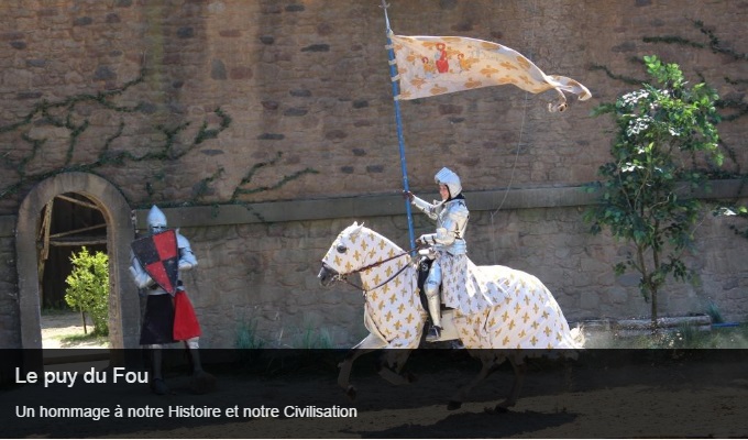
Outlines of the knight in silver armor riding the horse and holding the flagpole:
[{"label": "knight in silver armor riding the horse and holding the flagpole", "polygon": [[435,261],[424,285],[429,315],[431,316],[431,327],[426,336],[426,340],[429,342],[438,341],[441,338],[441,297],[439,290],[442,279],[449,275],[443,273],[444,268],[465,266],[464,264],[448,263],[450,263],[450,260],[453,260],[454,263],[464,263],[464,260],[468,258],[465,229],[470,217],[465,197],[462,195],[460,177],[444,167],[437,173],[435,180],[439,185],[441,201],[435,200],[433,204],[429,204],[414,196],[410,191],[405,193],[416,208],[437,222],[436,233],[424,234],[416,240],[419,246],[429,246],[435,255]]}]

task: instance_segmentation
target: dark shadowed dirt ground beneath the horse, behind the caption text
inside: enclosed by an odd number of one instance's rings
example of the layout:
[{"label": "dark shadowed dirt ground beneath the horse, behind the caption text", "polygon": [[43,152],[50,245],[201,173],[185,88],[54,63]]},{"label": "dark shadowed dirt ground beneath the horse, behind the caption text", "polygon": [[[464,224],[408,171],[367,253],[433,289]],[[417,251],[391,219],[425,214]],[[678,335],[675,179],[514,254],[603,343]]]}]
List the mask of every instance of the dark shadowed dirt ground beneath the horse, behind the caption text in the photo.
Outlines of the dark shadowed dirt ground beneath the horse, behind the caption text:
[{"label": "dark shadowed dirt ground beneath the horse, behind the caption text", "polygon": [[[444,351],[447,352],[447,351]],[[267,352],[265,352],[267,353]],[[333,354],[336,358],[338,354]],[[455,356],[461,356],[458,354]],[[452,356],[450,354],[450,356]],[[748,436],[748,356],[743,352],[616,352],[572,363],[571,367],[530,364],[518,405],[507,414],[486,414],[512,383],[502,370],[477,387],[462,408],[446,403],[479,370],[472,360],[414,354],[418,381],[393,386],[373,373],[374,354],[354,369],[359,395],[350,402],[336,384],[327,354],[318,367],[278,367],[284,361],[253,359],[213,365],[218,388],[189,393],[185,371],[170,371],[173,393],[155,396],[144,384],[25,385],[0,391],[0,418],[13,420],[11,438],[734,438]],[[307,361],[309,361],[307,359]],[[312,361],[314,362],[314,361]],[[69,365],[58,365],[69,370]],[[76,365],[81,372],[87,365]],[[277,369],[277,371],[273,371]],[[109,370],[111,372],[111,370]],[[355,408],[352,418],[309,417],[20,417],[19,408]]]}]

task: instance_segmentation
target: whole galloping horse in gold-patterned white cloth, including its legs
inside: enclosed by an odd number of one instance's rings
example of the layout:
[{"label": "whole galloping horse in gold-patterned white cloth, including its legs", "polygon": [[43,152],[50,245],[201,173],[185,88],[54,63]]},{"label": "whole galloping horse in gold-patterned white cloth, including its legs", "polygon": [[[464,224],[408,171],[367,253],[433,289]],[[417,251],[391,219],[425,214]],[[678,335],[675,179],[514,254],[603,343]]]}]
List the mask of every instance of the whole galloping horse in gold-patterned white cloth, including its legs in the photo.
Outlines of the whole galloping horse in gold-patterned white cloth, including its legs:
[{"label": "whole galloping horse in gold-patterned white cloth, including its legs", "polygon": [[[479,267],[470,261],[466,272],[460,279],[464,288],[442,298],[453,307],[442,317],[442,340],[459,339],[466,349],[491,350],[470,350],[483,366],[472,382],[457,392],[448,408],[459,408],[468,393],[508,359],[515,382],[506,400],[495,407],[496,411],[505,411],[519,396],[525,358],[558,354],[556,349],[582,349],[584,338],[580,329],[569,329],[558,302],[535,276],[505,266]],[[410,350],[420,344],[428,317],[409,253],[354,222],[330,246],[318,277],[322,286],[341,279],[355,286],[345,277],[356,273],[361,276],[364,326],[370,334],[340,364],[338,384],[351,398],[356,395],[349,382],[353,361],[374,350],[406,349],[387,351],[380,375],[393,384],[411,381],[400,371]]]}]

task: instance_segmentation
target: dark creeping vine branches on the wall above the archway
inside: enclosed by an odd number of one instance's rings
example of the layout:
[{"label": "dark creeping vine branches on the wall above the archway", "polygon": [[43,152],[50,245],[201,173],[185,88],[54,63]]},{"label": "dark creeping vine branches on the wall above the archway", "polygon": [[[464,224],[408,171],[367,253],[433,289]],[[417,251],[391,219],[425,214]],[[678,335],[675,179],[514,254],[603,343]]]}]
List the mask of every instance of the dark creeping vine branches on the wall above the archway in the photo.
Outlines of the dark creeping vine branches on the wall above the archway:
[{"label": "dark creeping vine branches on the wall above the archway", "polygon": [[[135,105],[120,105],[120,100],[124,94],[143,84],[146,79],[147,72],[141,68],[139,76],[121,87],[111,90],[99,91],[95,94],[78,94],[66,97],[61,100],[50,101],[42,99],[37,101],[32,109],[19,118],[18,121],[6,125],[0,125],[0,135],[11,136],[10,141],[3,140],[7,146],[4,152],[0,153],[0,166],[4,168],[2,187],[0,187],[0,199],[7,199],[19,195],[21,191],[29,188],[38,182],[52,177],[59,173],[66,172],[86,172],[94,174],[102,174],[105,166],[127,166],[133,163],[160,163],[162,166],[153,166],[154,172],[151,179],[144,183],[145,194],[139,200],[129,200],[133,206],[145,208],[153,202],[158,202],[161,206],[197,206],[197,205],[216,205],[221,202],[243,202],[246,204],[246,197],[263,191],[272,191],[278,189],[289,182],[293,182],[302,175],[317,173],[312,168],[304,168],[295,172],[288,176],[280,177],[273,185],[257,186],[252,185],[252,178],[255,173],[265,167],[278,165],[282,153],[277,153],[276,157],[267,162],[258,162],[249,166],[246,174],[238,183],[232,191],[229,200],[212,200],[206,201],[208,195],[215,194],[212,186],[220,179],[227,178],[223,167],[218,167],[210,176],[205,177],[193,185],[191,196],[187,200],[157,200],[161,197],[160,188],[165,186],[168,178],[168,172],[165,166],[168,164],[177,164],[179,160],[190,154],[198,147],[211,140],[218,139],[222,132],[231,127],[231,117],[220,107],[216,108],[201,122],[200,127],[190,136],[187,129],[191,125],[189,121],[180,121],[176,123],[157,122],[158,118],[152,118],[154,113],[154,106],[146,102],[139,102]],[[94,142],[100,142],[91,157],[91,153],[82,152],[80,139],[84,134],[89,132],[95,124],[91,123],[87,114],[90,114],[90,107],[98,107],[111,111],[108,118],[118,118],[119,122],[114,122],[113,132]],[[87,110],[81,110],[87,108]],[[141,147],[128,147],[125,150],[113,150],[116,141],[121,139],[128,129],[125,117],[145,116],[145,130],[138,127],[139,136],[146,140],[145,153],[138,154]],[[212,120],[213,122],[209,122]],[[132,118],[130,118],[132,120]],[[111,121],[109,121],[111,122]],[[98,123],[101,123],[98,121]],[[132,122],[130,122],[132,123]],[[140,120],[136,121],[140,123]],[[66,133],[65,157],[62,164],[57,164],[44,170],[31,172],[30,164],[32,161],[40,161],[44,157],[44,153],[52,153],[52,148],[59,146],[52,146],[47,139],[36,139],[31,135],[32,130],[36,127],[53,127]],[[9,144],[8,142],[12,143]],[[91,145],[86,145],[87,151],[90,151]],[[77,158],[77,156],[84,158]],[[86,157],[87,156],[87,157]],[[37,166],[38,169],[38,166]],[[8,179],[8,176],[14,175],[15,178]],[[242,197],[244,196],[244,197]],[[241,197],[241,200],[240,200]]]}]

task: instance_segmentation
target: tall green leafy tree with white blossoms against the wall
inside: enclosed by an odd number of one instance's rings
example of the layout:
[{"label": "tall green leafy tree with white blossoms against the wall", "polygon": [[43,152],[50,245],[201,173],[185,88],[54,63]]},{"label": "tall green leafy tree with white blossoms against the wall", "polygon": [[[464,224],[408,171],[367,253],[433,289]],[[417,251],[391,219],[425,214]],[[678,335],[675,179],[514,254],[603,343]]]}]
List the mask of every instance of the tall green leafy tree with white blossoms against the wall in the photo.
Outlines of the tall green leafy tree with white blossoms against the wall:
[{"label": "tall green leafy tree with white blossoms against the wall", "polygon": [[723,156],[717,150],[716,91],[705,84],[690,87],[676,64],[663,64],[657,56],[644,59],[653,84],[593,111],[613,118],[615,135],[613,161],[600,167],[602,182],[588,186],[600,191],[600,202],[584,219],[592,233],[607,228],[632,245],[615,272],[641,275],[639,289],[651,302],[654,330],[657,294],[668,276],[693,276],[681,256],[693,243],[702,206],[689,196],[708,189],[708,168],[722,166]]}]

